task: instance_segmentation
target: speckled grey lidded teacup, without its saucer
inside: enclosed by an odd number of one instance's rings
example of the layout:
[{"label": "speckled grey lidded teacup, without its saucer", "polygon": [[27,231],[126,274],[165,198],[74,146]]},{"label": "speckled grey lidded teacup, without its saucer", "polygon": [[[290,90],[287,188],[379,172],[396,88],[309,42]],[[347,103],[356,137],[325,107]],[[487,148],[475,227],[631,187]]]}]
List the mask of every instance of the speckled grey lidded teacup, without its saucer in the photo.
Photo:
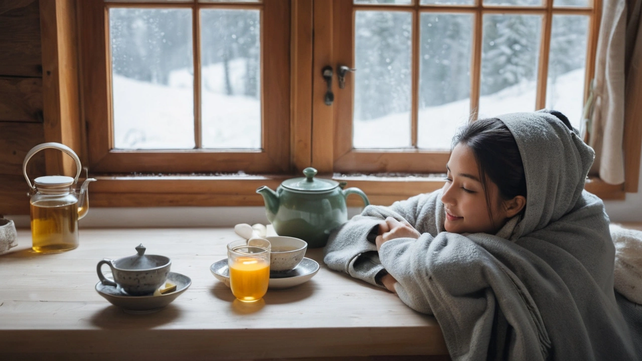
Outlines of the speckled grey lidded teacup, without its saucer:
[{"label": "speckled grey lidded teacup, without its saucer", "polygon": [[[118,258],[117,260],[103,259],[96,265],[96,272],[101,283],[106,286],[120,286],[129,295],[150,295],[162,286],[169,274],[171,260],[157,254],[146,255],[145,247],[136,247],[134,256]],[[114,279],[103,275],[101,267],[107,264],[112,269]]]}]

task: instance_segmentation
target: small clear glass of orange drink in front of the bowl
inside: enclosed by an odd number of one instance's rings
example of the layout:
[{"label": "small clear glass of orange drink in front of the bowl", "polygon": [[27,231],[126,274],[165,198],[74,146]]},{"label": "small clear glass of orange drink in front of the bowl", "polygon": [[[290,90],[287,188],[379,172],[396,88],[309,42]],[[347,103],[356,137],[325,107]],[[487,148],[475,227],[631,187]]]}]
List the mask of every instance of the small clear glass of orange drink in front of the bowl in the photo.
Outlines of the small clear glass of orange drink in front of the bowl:
[{"label": "small clear glass of orange drink in front of the bowl", "polygon": [[270,251],[264,247],[235,241],[227,245],[230,288],[239,301],[259,301],[270,283]]}]

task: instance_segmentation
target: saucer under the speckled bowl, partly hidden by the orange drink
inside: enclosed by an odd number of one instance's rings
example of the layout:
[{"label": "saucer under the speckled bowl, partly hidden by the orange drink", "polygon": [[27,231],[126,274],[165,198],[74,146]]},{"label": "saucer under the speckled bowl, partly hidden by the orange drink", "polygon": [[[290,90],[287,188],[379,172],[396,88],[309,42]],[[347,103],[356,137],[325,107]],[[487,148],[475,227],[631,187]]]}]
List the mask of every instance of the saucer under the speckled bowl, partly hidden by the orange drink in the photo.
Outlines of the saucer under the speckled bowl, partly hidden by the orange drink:
[{"label": "saucer under the speckled bowl, partly hidden by the orange drink", "polygon": [[[227,268],[227,258],[214,262],[209,270],[219,281],[230,286],[230,270]],[[304,257],[293,270],[288,272],[270,272],[270,283],[268,288],[279,290],[290,288],[308,282],[319,270],[319,264],[315,260]]]}]

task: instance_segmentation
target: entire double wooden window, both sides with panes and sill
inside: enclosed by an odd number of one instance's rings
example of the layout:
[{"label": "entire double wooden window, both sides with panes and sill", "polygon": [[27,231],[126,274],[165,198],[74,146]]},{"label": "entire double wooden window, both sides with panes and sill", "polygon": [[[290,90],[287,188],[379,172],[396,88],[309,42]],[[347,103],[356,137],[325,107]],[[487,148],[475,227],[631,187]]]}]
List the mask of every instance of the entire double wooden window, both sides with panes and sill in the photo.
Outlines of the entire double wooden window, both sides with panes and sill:
[{"label": "entire double wooden window, both sides with panes and sill", "polygon": [[377,204],[440,188],[467,121],[580,125],[600,5],[542,1],[79,1],[92,203],[258,206],[307,166]]}]

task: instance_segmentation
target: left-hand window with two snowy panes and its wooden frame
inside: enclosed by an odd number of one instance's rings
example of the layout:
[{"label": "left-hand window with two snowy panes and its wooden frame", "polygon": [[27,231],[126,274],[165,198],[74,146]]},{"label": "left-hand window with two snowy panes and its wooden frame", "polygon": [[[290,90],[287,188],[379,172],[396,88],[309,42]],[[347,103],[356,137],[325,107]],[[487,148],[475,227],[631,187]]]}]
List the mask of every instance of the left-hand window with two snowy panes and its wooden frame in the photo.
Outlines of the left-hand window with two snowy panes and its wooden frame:
[{"label": "left-hand window with two snowy panes and its wooden frame", "polygon": [[289,1],[81,1],[93,172],[286,172]]}]

